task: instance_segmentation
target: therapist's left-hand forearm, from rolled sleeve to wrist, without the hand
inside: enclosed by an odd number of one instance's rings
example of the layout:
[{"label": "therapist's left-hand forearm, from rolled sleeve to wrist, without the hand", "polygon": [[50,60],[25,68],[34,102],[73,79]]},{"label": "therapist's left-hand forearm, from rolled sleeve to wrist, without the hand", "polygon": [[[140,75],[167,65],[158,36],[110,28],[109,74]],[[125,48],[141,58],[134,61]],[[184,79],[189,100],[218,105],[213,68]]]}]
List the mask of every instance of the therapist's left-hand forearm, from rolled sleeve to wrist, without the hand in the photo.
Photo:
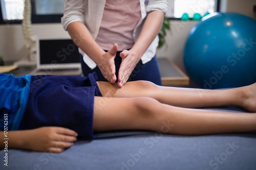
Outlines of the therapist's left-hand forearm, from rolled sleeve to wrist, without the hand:
[{"label": "therapist's left-hand forearm, from rolled sleeve to wrist, without the hand", "polygon": [[76,45],[98,65],[100,57],[105,52],[93,39],[86,26],[82,22],[76,21],[70,23],[67,30]]}]

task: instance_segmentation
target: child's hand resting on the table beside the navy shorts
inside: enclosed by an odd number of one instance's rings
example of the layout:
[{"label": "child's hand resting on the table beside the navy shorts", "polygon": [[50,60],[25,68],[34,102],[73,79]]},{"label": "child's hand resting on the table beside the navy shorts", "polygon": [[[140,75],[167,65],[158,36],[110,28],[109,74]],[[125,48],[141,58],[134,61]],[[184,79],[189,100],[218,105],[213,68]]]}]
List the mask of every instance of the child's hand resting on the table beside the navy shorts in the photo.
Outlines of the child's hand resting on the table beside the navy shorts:
[{"label": "child's hand resting on the table beside the navy shorts", "polygon": [[24,143],[20,149],[60,153],[66,148],[70,148],[76,141],[76,137],[75,131],[60,127],[26,130],[23,138]]}]

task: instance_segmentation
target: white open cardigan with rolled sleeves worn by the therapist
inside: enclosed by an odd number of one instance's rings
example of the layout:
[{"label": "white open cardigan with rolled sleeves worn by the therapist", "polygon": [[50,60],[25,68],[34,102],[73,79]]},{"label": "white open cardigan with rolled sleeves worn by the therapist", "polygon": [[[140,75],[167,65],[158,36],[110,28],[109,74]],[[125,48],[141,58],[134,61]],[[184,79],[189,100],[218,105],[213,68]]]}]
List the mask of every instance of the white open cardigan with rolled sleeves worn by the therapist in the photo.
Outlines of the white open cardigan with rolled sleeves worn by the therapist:
[{"label": "white open cardigan with rolled sleeves worn by the therapist", "polygon": [[[92,37],[96,39],[100,28],[104,7],[105,0],[65,0],[64,15],[61,18],[62,26],[65,30],[67,30],[67,27],[71,22],[83,22],[91,33]],[[141,32],[147,12],[163,11],[166,13],[168,3],[167,0],[140,0],[140,8],[141,19],[139,20],[133,33],[134,41],[137,40]],[[141,57],[143,64],[147,63],[155,56],[158,41],[159,38],[157,36]],[[83,56],[83,61],[91,69],[96,67],[95,62],[87,54],[81,51],[80,48],[79,53]]]}]

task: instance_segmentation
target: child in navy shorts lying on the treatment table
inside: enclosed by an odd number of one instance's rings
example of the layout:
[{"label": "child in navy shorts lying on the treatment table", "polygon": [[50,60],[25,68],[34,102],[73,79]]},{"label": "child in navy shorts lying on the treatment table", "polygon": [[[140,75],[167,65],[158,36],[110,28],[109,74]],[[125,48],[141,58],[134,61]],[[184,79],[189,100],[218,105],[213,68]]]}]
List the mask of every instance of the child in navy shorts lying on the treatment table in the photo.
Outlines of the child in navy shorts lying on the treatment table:
[{"label": "child in navy shorts lying on the treatment table", "polygon": [[[77,136],[111,130],[151,130],[204,135],[256,131],[256,83],[206,90],[161,87],[146,81],[122,88],[96,82],[96,75],[23,76],[0,74],[1,148],[62,152]],[[254,113],[195,109],[237,105]],[[162,129],[163,122],[172,128]]]}]

